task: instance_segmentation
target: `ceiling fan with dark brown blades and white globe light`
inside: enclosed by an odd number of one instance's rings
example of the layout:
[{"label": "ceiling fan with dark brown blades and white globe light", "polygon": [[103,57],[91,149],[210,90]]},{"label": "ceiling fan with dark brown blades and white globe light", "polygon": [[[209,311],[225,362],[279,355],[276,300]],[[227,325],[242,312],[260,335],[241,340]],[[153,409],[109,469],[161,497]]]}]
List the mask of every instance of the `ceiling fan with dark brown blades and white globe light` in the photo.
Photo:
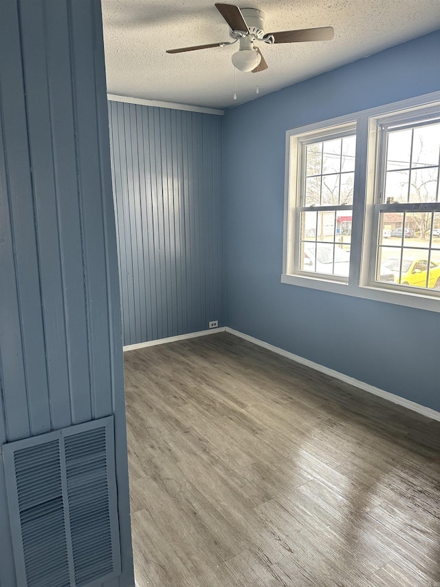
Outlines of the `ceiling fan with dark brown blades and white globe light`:
[{"label": "ceiling fan with dark brown blades and white globe light", "polygon": [[210,43],[209,45],[195,45],[194,47],[182,47],[170,49],[167,53],[184,53],[211,47],[226,47],[239,42],[239,51],[232,55],[232,63],[241,72],[262,72],[267,70],[267,63],[259,47],[255,47],[255,41],[263,41],[268,45],[274,43],[299,43],[301,41],[330,41],[333,39],[332,27],[306,28],[300,30],[281,30],[278,32],[265,32],[265,13],[257,8],[243,8],[233,4],[215,4],[221,16],[230,26],[232,41],[222,43]]}]

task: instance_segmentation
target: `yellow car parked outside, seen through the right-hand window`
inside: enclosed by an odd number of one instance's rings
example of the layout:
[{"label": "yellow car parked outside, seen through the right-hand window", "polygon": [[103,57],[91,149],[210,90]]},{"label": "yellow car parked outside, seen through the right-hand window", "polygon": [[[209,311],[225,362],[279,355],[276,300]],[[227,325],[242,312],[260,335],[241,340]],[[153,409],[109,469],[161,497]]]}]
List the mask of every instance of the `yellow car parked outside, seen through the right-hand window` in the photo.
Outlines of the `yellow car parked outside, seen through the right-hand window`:
[{"label": "yellow car parked outside, seen through the right-hand window", "polygon": [[[381,281],[390,281],[390,279],[382,279],[382,276],[392,274],[396,284],[426,288],[428,261],[427,259],[404,259],[400,267],[399,258],[386,259],[380,267],[380,273]],[[440,264],[434,261],[430,261],[429,264],[428,288],[440,290]]]}]

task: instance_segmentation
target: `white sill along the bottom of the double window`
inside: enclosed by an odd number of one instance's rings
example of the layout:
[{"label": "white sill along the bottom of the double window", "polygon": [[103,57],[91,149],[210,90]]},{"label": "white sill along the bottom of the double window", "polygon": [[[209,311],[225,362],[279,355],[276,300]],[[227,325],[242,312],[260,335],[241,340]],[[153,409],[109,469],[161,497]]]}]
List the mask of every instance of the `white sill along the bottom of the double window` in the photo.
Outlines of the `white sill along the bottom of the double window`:
[{"label": "white sill along the bottom of the double window", "polygon": [[440,299],[427,295],[414,294],[410,292],[391,292],[371,286],[350,286],[342,284],[340,281],[330,281],[327,279],[316,279],[314,277],[303,277],[302,275],[281,275],[281,283],[291,286],[300,286],[302,288],[311,288],[342,295],[351,295],[373,301],[382,301],[385,303],[394,303],[397,306],[407,306],[408,308],[419,308],[430,312],[440,312]]}]

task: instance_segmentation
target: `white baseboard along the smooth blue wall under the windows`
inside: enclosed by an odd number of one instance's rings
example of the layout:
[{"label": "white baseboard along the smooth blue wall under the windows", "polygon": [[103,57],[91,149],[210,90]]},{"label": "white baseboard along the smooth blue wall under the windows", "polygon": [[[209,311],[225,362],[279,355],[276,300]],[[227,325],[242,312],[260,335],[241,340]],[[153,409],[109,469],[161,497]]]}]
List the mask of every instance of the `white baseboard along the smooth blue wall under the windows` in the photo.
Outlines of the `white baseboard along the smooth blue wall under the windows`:
[{"label": "white baseboard along the smooth blue wall under the windows", "polygon": [[435,409],[431,409],[430,407],[420,405],[419,403],[415,403],[405,398],[401,398],[400,396],[396,396],[395,394],[391,394],[390,392],[386,392],[384,391],[384,389],[379,389],[379,387],[374,387],[374,385],[369,385],[369,383],[364,383],[364,381],[359,381],[359,379],[349,377],[348,375],[344,375],[344,373],[334,371],[333,369],[329,369],[329,367],[324,367],[324,365],[314,363],[314,361],[309,361],[309,359],[304,359],[303,356],[298,356],[293,352],[289,352],[282,348],[278,348],[269,343],[265,343],[264,341],[261,341],[259,339],[254,339],[254,337],[250,337],[248,334],[243,334],[243,332],[239,332],[238,330],[234,330],[233,328],[229,328],[228,326],[226,326],[224,330],[226,332],[230,332],[230,334],[234,334],[236,337],[244,339],[245,341],[249,341],[250,343],[254,343],[255,345],[259,345],[263,348],[266,348],[267,350],[272,350],[272,352],[281,354],[282,356],[287,357],[287,359],[292,359],[292,361],[296,361],[296,363],[306,365],[311,369],[320,371],[321,373],[325,373],[326,375],[330,375],[331,377],[334,377],[336,379],[340,379],[340,381],[349,383],[350,385],[358,387],[359,389],[363,389],[364,392],[369,392],[369,394],[374,394],[375,396],[379,396],[393,403],[402,405],[408,409],[412,409],[413,412],[422,414],[422,416],[426,416],[427,418],[432,418],[432,420],[440,421],[440,412],[437,412]]}]

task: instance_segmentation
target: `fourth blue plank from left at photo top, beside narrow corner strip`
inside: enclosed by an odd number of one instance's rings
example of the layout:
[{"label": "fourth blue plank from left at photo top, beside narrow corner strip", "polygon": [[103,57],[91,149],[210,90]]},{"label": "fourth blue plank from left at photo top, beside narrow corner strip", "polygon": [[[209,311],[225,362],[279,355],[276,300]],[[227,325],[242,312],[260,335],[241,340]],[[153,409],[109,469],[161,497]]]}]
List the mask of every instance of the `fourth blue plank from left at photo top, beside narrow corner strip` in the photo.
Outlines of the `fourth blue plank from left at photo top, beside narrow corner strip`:
[{"label": "fourth blue plank from left at photo top, beside narrow corner strip", "polygon": [[[96,129],[95,67],[89,58],[89,47],[94,43],[93,22],[89,17],[90,8],[85,2],[77,3],[72,10],[72,42],[78,49],[72,59],[72,70],[76,85],[75,115],[77,127],[77,156],[81,173],[78,177],[80,211],[83,222],[83,247],[85,255],[85,287],[87,299],[87,324],[89,328],[89,353],[91,375],[91,416],[96,418],[97,403],[111,410],[108,390],[110,381],[109,319],[107,295],[103,284],[107,284],[105,259],[104,226],[102,217],[101,177],[99,161],[99,140]],[[73,6],[73,5],[72,5]],[[96,238],[96,235],[101,235]],[[104,343],[106,341],[106,343]],[[105,394],[105,396],[102,396]],[[108,413],[108,412],[107,412]]]}]

